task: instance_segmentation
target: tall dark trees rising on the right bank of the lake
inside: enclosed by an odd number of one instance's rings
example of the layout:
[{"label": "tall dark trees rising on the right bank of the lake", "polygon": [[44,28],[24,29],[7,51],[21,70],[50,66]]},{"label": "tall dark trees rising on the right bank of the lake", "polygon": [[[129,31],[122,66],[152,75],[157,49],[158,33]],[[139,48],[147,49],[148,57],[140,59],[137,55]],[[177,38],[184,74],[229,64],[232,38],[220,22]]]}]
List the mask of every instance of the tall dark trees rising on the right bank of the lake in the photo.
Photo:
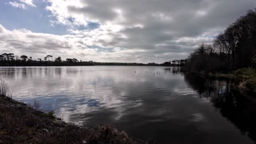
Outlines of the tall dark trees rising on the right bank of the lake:
[{"label": "tall dark trees rising on the right bank of the lake", "polygon": [[256,9],[232,23],[214,39],[201,44],[185,62],[188,71],[231,71],[256,66]]}]

